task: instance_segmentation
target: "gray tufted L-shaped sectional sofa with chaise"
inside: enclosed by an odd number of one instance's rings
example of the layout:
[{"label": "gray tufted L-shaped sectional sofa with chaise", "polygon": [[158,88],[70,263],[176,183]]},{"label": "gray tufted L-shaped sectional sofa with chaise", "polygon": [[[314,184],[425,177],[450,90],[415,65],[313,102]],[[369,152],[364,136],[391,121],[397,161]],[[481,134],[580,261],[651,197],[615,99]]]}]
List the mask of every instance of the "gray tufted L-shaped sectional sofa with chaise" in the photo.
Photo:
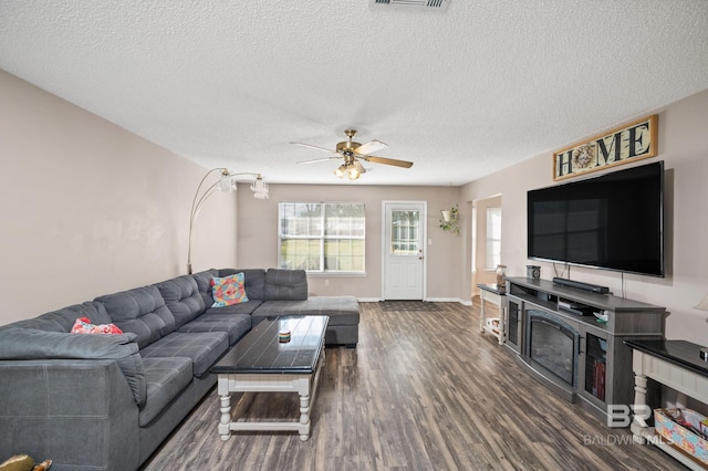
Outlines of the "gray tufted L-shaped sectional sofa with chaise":
[{"label": "gray tufted L-shaped sectional sofa with chaise", "polygon": [[[249,301],[211,307],[211,279],[238,272]],[[356,346],[357,300],[309,296],[301,270],[212,269],[0,326],[0,458],[135,470],[215,386],[209,368],[252,326],[305,314],[330,316],[327,345]],[[71,334],[79,317],[123,334]]]}]

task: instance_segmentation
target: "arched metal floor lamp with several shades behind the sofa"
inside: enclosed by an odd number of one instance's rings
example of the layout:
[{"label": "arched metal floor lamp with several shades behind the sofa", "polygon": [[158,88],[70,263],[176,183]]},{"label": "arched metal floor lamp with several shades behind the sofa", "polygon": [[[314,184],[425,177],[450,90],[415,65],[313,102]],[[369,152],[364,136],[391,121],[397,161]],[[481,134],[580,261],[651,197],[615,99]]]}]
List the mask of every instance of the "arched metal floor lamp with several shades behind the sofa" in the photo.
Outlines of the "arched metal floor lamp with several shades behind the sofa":
[{"label": "arched metal floor lamp with several shades behind the sofa", "polygon": [[[219,172],[219,178],[216,181],[212,181],[211,185],[206,186],[208,185],[209,177],[212,177],[216,172]],[[199,216],[201,207],[207,201],[207,199],[216,191],[223,191],[228,193],[236,191],[238,177],[244,176],[253,177],[253,181],[251,182],[250,187],[251,191],[253,191],[253,198],[268,199],[268,184],[263,180],[261,174],[252,174],[249,171],[232,174],[228,168],[212,168],[211,170],[207,171],[207,174],[199,182],[197,192],[195,192],[195,198],[191,201],[191,212],[189,213],[189,249],[187,252],[187,273],[191,274],[191,250],[195,238],[195,223],[197,221],[197,216]]]}]

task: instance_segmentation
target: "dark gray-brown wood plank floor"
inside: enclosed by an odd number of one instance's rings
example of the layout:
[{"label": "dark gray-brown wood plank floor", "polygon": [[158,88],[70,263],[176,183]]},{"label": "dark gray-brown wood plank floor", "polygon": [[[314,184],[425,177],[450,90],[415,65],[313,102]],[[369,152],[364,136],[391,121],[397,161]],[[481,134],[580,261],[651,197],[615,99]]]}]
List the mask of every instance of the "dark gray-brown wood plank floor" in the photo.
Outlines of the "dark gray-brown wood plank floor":
[{"label": "dark gray-brown wood plank floor", "polygon": [[[362,303],[357,348],[326,350],[310,440],[235,432],[222,442],[215,389],[143,469],[684,469],[551,394],[478,325],[477,303],[434,312]],[[261,394],[249,414],[298,417],[298,407],[296,395]]]}]

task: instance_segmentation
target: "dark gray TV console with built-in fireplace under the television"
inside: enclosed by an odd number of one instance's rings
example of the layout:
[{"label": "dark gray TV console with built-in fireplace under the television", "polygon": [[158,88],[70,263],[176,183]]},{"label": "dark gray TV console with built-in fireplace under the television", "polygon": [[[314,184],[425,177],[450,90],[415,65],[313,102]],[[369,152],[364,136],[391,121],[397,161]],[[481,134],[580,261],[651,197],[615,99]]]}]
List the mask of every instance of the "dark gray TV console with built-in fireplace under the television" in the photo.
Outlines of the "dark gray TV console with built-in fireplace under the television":
[{"label": "dark gray TV console with built-in fireplace under the television", "polygon": [[506,294],[504,345],[517,363],[610,426],[608,406],[634,400],[624,341],[663,339],[666,310],[555,280],[509,278]]}]

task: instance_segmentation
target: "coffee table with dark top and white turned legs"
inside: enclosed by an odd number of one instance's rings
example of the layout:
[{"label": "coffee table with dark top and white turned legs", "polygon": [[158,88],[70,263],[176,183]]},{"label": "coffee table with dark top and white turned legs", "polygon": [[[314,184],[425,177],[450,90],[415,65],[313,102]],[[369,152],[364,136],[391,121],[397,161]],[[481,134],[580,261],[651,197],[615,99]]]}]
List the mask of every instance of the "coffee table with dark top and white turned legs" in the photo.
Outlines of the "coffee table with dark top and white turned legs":
[{"label": "coffee table with dark top and white turned legs", "polygon": [[[226,441],[236,430],[294,430],[310,438],[310,410],[324,364],[327,316],[288,316],[264,320],[227,353],[210,371],[218,375],[221,402],[219,435]],[[290,331],[290,341],[279,333]],[[243,396],[231,414],[231,393],[298,393],[300,418],[283,421],[238,420]],[[246,395],[244,395],[246,396]]]}]

